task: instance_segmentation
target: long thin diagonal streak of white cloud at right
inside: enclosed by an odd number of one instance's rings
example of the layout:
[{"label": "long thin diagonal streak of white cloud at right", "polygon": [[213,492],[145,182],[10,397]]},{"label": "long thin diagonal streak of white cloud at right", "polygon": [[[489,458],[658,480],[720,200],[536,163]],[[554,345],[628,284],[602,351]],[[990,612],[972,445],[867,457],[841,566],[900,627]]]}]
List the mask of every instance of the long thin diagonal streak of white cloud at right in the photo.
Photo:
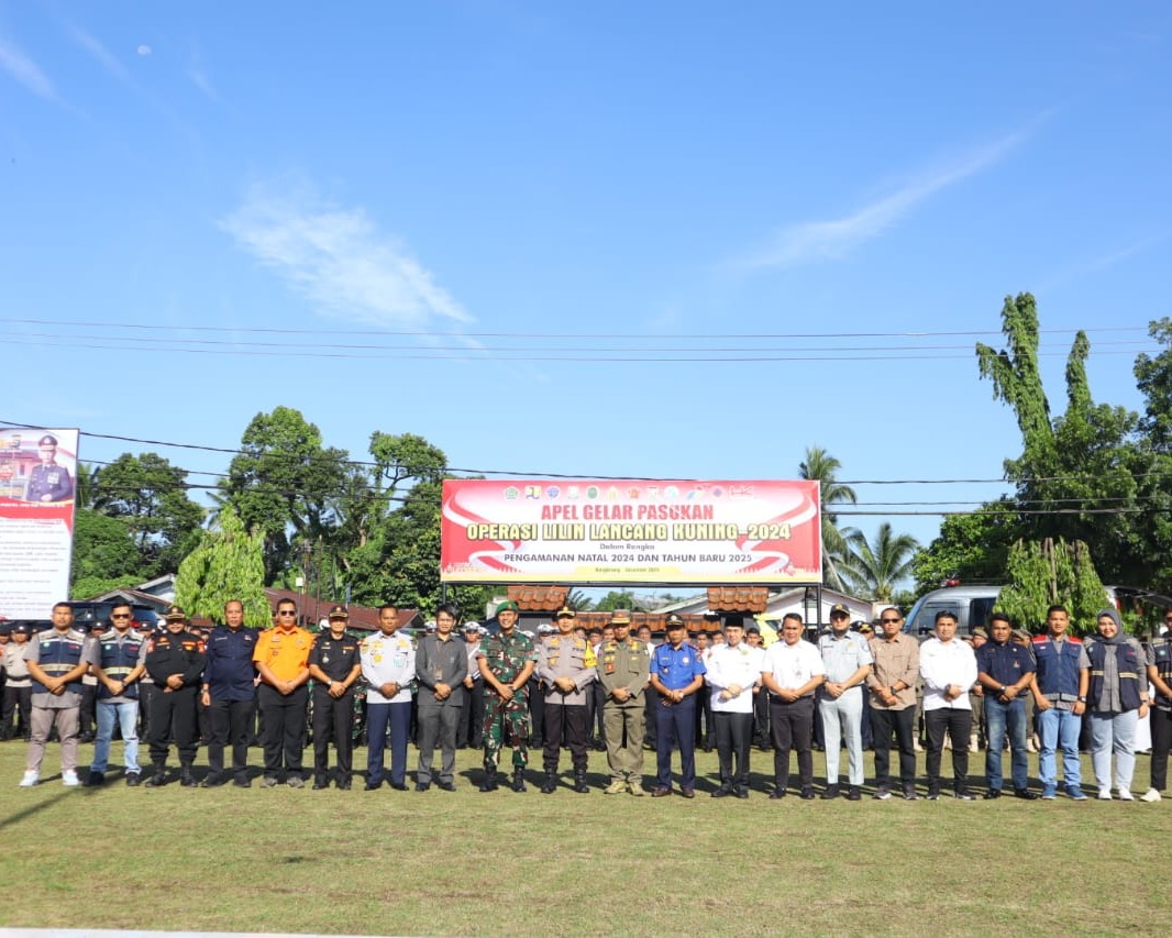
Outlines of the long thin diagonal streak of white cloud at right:
[{"label": "long thin diagonal streak of white cloud at right", "polygon": [[928,197],[999,163],[1024,136],[1024,132],[1011,134],[948,164],[924,171],[890,196],[843,218],[788,225],[766,245],[734,260],[731,266],[754,271],[845,257],[859,244],[883,235]]}]

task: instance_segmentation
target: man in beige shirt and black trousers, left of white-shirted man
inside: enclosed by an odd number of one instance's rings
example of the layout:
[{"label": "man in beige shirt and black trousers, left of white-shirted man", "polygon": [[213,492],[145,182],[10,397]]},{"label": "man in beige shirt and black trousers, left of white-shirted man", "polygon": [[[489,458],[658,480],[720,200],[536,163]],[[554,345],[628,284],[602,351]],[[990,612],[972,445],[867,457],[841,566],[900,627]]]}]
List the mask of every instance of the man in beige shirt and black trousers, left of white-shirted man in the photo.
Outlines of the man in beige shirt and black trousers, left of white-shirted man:
[{"label": "man in beige shirt and black trousers, left of white-shirted man", "polygon": [[894,606],[879,613],[883,632],[870,641],[871,727],[875,743],[875,794],[891,797],[891,740],[899,748],[899,780],[906,801],[915,801],[915,682],[920,677],[920,643],[904,632]]}]

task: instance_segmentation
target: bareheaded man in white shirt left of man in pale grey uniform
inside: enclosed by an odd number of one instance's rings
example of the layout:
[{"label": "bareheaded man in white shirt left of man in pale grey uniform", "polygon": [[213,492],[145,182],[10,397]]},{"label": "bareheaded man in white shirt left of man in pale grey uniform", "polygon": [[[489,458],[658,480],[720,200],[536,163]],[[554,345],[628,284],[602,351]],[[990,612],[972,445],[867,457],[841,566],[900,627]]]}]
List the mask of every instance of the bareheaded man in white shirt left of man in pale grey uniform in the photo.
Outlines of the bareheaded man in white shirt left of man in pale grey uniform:
[{"label": "bareheaded man in white shirt left of man in pale grey uniform", "polygon": [[813,794],[813,695],[826,680],[818,648],[802,638],[802,617],[788,612],[782,639],[765,650],[761,681],[769,691],[769,723],[774,740],[772,800],[785,797],[790,782],[790,749],[797,749],[802,798]]}]

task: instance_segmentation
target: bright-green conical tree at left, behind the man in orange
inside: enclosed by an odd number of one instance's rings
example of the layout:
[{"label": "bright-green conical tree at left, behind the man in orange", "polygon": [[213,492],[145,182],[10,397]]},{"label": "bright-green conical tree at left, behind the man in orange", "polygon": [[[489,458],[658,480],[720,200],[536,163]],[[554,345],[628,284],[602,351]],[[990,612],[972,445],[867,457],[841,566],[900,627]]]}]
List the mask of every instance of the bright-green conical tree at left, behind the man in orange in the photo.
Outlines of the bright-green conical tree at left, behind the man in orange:
[{"label": "bright-green conical tree at left, behind the man in orange", "polygon": [[182,564],[175,580],[175,601],[189,616],[223,621],[224,604],[239,599],[247,625],[272,621],[265,597],[264,537],[250,533],[231,508],[219,514],[218,529],[203,537]]}]

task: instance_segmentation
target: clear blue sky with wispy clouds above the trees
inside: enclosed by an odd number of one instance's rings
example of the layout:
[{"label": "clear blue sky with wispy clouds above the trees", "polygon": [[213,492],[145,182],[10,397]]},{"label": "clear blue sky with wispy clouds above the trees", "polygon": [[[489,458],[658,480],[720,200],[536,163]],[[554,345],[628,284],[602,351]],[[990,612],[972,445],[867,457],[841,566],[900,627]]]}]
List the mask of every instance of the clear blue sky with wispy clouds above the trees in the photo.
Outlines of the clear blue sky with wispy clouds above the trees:
[{"label": "clear blue sky with wispy clouds above the trees", "polygon": [[[1078,328],[1140,406],[1172,9],[815,6],[0,2],[0,420],[232,448],[285,405],[584,476],[820,446],[926,543],[1020,451],[973,354],[1006,294],[1056,409]],[[81,455],[127,449],[229,458]]]}]

